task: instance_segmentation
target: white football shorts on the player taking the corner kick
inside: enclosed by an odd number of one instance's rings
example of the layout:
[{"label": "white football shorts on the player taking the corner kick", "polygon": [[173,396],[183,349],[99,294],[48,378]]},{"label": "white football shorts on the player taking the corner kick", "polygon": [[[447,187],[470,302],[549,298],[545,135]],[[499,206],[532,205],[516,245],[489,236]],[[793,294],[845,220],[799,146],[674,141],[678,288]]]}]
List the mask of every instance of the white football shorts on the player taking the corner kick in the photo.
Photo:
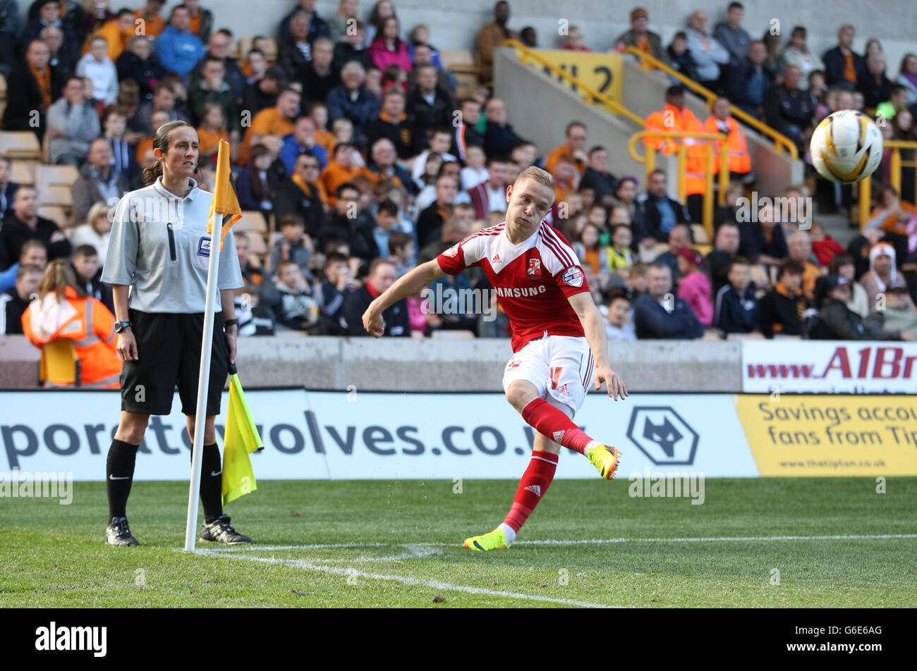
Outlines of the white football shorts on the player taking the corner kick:
[{"label": "white football shorts on the player taking the corner kick", "polygon": [[503,391],[515,380],[527,380],[551,405],[560,403],[576,413],[594,372],[595,361],[585,337],[546,336],[530,340],[506,362]]}]

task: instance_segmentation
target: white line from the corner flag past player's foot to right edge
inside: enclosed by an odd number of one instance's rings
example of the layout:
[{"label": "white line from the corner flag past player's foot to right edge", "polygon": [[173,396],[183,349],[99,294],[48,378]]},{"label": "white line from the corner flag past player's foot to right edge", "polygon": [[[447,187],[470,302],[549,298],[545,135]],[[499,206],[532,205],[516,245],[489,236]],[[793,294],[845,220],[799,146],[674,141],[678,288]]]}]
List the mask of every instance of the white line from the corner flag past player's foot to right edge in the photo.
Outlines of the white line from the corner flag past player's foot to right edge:
[{"label": "white line from the corner flag past player's foot to right edge", "polygon": [[[716,543],[757,541],[847,541],[881,540],[889,538],[917,538],[917,534],[849,534],[824,536],[706,536],[682,538],[593,538],[577,540],[535,540],[516,541],[513,545],[603,545],[609,543]],[[206,548],[207,552],[266,552],[274,550],[325,550],[345,547],[462,547],[458,543],[332,543],[306,545],[230,545],[228,547]]]}]

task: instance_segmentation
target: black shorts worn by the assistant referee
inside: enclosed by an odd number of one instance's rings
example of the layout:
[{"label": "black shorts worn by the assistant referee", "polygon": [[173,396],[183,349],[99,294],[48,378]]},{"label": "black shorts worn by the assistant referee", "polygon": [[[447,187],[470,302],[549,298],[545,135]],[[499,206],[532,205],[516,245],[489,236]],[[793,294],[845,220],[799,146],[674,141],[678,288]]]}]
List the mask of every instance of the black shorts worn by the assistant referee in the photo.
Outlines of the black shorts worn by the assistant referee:
[{"label": "black shorts worn by the assistant referee", "polygon": [[[197,383],[201,368],[204,313],[141,313],[128,311],[137,338],[138,360],[121,367],[121,410],[129,413],[169,414],[178,387],[182,413],[197,411]],[[223,313],[214,318],[210,355],[207,414],[220,413],[220,400],[229,374],[229,353],[223,335]]]}]

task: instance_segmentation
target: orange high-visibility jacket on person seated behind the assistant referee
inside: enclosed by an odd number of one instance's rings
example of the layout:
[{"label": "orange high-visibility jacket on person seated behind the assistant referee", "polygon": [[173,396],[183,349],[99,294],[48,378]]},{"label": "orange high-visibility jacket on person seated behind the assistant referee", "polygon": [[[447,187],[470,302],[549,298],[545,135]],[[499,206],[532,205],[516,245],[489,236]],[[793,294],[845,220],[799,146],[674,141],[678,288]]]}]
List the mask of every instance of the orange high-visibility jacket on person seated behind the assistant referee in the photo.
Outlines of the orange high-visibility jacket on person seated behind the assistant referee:
[{"label": "orange high-visibility jacket on person seated behind the assistant referee", "polygon": [[[67,303],[76,310],[66,323],[50,338],[43,338],[32,331],[31,310],[38,303],[33,302],[22,314],[22,330],[35,347],[41,347],[55,338],[73,341],[76,355],[80,358],[82,384],[117,389],[121,375],[121,359],[117,356],[115,342],[115,315],[94,298],[77,298],[70,287],[66,289]],[[53,381],[53,380],[51,380]]]}]

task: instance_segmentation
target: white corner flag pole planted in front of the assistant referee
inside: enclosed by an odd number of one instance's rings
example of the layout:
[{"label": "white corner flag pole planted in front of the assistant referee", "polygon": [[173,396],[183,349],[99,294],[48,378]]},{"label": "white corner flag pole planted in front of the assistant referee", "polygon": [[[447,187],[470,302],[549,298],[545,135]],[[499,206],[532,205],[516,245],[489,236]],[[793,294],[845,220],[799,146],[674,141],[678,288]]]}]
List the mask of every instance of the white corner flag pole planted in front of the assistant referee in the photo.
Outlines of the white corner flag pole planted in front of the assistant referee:
[{"label": "white corner flag pole planted in front of the assistant referee", "polygon": [[204,458],[204,429],[207,422],[207,391],[210,387],[210,353],[214,341],[214,296],[216,273],[220,265],[220,238],[223,236],[223,214],[211,219],[210,265],[207,270],[207,298],[204,302],[204,337],[201,343],[201,370],[197,382],[197,411],[194,413],[194,442],[191,456],[191,488],[188,492],[188,522],[184,529],[184,550],[194,551],[197,537],[197,499],[201,489],[201,462]]}]

